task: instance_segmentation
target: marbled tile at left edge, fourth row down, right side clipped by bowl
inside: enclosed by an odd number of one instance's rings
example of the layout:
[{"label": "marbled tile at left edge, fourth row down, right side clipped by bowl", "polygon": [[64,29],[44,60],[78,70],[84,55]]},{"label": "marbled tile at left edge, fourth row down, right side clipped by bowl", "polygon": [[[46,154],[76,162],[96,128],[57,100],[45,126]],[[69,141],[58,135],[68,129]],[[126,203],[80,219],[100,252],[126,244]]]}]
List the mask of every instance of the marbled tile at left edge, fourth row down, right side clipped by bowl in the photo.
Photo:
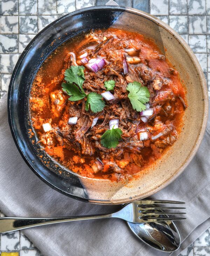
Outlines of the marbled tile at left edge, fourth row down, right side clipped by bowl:
[{"label": "marbled tile at left edge, fourth row down, right side clipped by bowl", "polygon": [[0,54],[0,72],[12,73],[19,54]]}]

